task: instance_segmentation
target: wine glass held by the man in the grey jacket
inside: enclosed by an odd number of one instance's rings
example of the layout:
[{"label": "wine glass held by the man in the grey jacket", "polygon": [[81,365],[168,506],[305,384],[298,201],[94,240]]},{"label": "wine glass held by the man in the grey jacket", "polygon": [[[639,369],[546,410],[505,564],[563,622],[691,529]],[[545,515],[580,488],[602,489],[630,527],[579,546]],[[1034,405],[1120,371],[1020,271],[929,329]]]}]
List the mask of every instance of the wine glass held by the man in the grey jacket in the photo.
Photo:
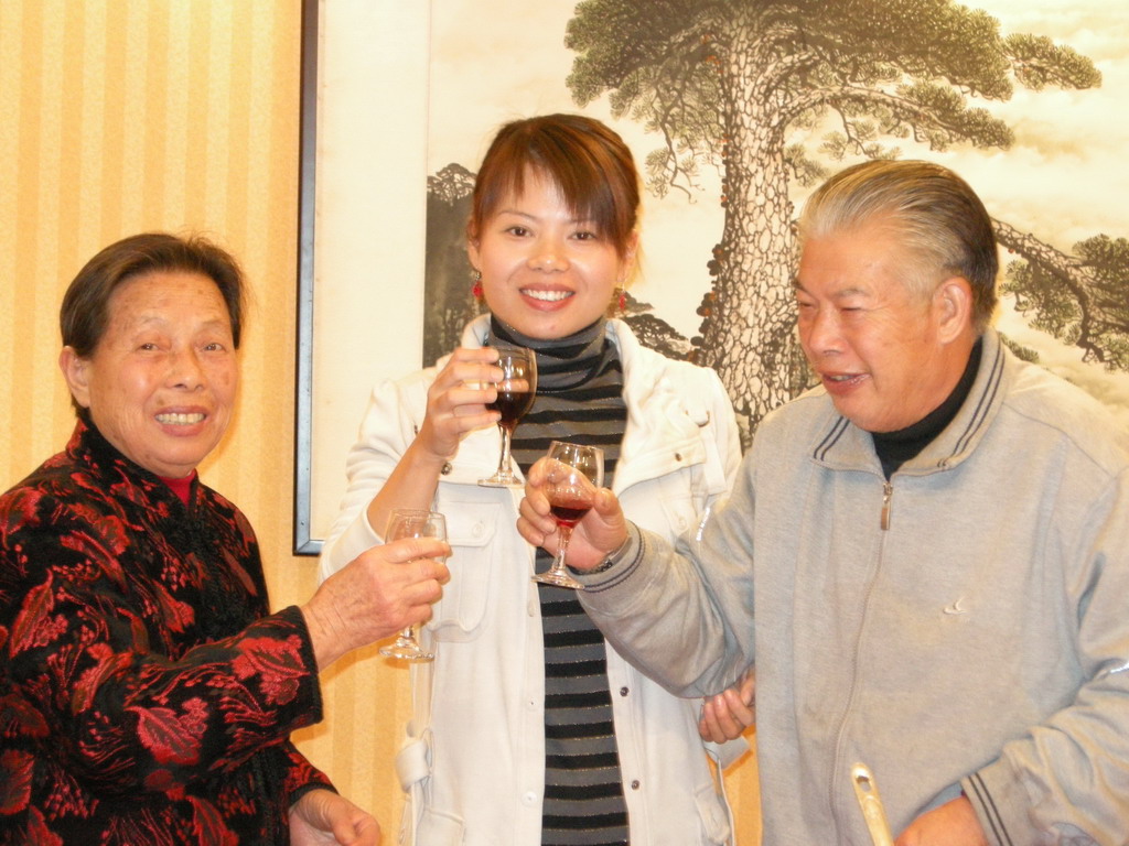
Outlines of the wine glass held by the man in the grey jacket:
[{"label": "wine glass held by the man in the grey jacket", "polygon": [[596,500],[596,491],[603,484],[604,450],[599,447],[563,441],[553,441],[549,446],[545,494],[549,496],[549,510],[557,521],[560,546],[552,567],[544,573],[534,574],[533,581],[584,590],[584,585],[564,569],[564,556],[568,554],[572,527],[588,513]]}]

